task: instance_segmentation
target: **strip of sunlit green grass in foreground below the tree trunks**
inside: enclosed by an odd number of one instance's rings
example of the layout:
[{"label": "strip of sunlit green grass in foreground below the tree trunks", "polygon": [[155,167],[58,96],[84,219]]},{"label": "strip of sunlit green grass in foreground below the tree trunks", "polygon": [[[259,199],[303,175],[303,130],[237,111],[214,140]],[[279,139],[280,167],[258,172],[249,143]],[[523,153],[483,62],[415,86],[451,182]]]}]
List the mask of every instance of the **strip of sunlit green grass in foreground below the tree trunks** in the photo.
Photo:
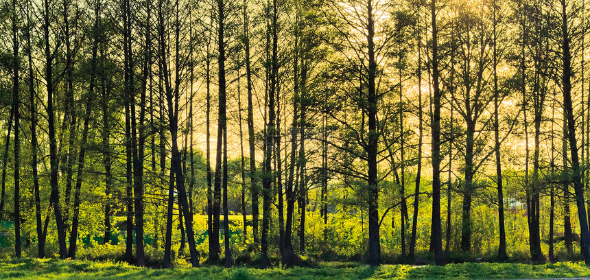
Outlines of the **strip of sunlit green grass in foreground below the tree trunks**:
[{"label": "strip of sunlit green grass in foreground below the tree trunks", "polygon": [[256,268],[218,266],[153,269],[128,264],[58,259],[0,259],[0,279],[532,279],[590,277],[581,263],[449,264],[443,267],[355,263],[322,263],[319,268]]}]

